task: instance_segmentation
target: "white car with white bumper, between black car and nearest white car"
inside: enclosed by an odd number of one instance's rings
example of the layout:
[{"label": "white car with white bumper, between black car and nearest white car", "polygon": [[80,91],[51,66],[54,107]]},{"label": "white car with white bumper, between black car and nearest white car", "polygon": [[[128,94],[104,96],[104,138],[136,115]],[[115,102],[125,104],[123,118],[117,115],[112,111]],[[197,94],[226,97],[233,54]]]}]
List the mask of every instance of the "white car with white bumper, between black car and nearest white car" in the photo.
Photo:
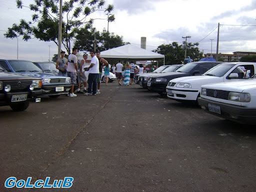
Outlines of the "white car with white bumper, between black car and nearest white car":
[{"label": "white car with white bumper, between black car and nearest white car", "polygon": [[[244,70],[242,69],[244,67]],[[203,84],[239,81],[248,78],[256,70],[255,62],[225,62],[202,75],[174,78],[166,86],[167,96],[177,101],[196,101]]]}]

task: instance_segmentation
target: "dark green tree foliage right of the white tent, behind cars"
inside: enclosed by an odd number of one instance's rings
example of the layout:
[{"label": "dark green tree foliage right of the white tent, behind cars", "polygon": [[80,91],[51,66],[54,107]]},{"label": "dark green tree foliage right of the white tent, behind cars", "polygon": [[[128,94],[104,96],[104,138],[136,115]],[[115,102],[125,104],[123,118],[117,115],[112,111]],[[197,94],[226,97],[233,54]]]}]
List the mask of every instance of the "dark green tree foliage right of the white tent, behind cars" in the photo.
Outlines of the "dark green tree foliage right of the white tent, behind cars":
[{"label": "dark green tree foliage right of the white tent, behind cars", "polygon": [[[203,57],[203,53],[195,46],[198,46],[198,43],[187,43],[186,45],[186,56],[190,56],[193,61],[199,60]],[[161,44],[153,51],[165,55],[165,64],[180,64],[184,60],[185,50],[183,45],[179,45],[177,42]]]}]

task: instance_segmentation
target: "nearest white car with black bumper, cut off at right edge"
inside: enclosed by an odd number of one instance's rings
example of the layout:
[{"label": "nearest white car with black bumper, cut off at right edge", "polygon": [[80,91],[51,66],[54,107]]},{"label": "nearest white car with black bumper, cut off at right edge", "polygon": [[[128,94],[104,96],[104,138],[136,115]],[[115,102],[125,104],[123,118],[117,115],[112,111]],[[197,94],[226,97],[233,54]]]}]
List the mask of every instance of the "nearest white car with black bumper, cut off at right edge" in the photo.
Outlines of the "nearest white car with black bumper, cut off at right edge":
[{"label": "nearest white car with black bumper, cut off at right edge", "polygon": [[222,118],[256,124],[256,76],[202,85],[198,103],[205,111]]}]

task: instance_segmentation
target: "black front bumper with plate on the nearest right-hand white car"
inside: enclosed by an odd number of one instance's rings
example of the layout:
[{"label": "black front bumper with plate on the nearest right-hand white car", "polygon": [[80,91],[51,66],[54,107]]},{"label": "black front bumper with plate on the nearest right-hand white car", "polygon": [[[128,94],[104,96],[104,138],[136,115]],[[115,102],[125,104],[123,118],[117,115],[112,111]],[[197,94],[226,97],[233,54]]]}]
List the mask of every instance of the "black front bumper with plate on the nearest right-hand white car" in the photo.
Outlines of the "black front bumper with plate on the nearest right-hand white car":
[{"label": "black front bumper with plate on the nearest right-hand white car", "polygon": [[[256,124],[256,108],[247,108],[201,97],[198,98],[198,103],[204,111],[210,114],[243,124]],[[211,109],[212,107],[216,107],[217,110],[214,112],[214,110]]]}]

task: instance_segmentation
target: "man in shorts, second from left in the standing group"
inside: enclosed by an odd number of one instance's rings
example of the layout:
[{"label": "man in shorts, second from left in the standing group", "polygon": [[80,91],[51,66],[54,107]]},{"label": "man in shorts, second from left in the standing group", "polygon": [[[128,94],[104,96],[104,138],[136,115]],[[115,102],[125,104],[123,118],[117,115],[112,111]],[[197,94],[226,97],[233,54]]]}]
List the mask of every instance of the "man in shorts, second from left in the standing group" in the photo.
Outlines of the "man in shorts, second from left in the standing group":
[{"label": "man in shorts, second from left in the standing group", "polygon": [[76,54],[78,52],[78,49],[76,47],[73,47],[72,49],[72,53],[68,55],[67,58],[67,75],[71,78],[71,89],[70,89],[70,93],[69,96],[73,97],[76,96],[76,94],[74,94],[74,84],[76,84],[76,70],[78,69],[78,65],[77,65],[77,57]]}]

